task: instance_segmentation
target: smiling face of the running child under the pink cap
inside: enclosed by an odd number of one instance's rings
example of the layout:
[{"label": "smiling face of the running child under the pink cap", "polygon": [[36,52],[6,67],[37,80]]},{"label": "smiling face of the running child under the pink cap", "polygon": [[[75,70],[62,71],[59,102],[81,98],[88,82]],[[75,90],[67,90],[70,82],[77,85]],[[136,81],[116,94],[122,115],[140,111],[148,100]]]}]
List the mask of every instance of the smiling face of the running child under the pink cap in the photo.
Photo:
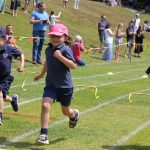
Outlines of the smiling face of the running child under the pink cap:
[{"label": "smiling face of the running child under the pink cap", "polygon": [[57,47],[65,42],[65,36],[50,35],[50,42],[54,47]]}]

